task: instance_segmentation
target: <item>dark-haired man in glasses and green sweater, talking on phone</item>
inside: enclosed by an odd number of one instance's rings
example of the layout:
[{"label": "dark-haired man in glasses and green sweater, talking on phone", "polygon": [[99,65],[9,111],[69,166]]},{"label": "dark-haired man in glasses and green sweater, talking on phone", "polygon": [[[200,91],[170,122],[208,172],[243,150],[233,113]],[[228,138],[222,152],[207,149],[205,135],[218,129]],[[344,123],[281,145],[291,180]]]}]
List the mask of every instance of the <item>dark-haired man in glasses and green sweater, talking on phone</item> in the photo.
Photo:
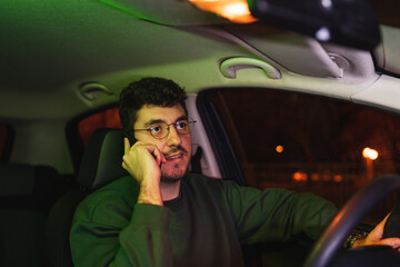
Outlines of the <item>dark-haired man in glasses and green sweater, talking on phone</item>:
[{"label": "dark-haired man in glasses and green sweater, talking on phone", "polygon": [[[243,266],[241,245],[317,239],[337,212],[310,194],[187,175],[194,121],[184,99],[178,85],[161,78],[122,91],[120,117],[130,139],[122,166],[130,176],[78,207],[70,235],[76,266]],[[351,245],[387,241],[381,228]]]}]

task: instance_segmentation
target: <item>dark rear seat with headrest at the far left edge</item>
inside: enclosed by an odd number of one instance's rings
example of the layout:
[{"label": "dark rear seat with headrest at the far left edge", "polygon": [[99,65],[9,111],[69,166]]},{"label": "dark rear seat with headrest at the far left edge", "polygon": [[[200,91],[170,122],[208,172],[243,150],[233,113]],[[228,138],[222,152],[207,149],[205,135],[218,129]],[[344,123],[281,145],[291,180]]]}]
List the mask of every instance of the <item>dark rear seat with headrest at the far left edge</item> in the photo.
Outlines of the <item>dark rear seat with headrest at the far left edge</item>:
[{"label": "dark rear seat with headrest at the far left edge", "polygon": [[0,165],[0,266],[41,266],[46,218],[62,185],[49,166]]}]

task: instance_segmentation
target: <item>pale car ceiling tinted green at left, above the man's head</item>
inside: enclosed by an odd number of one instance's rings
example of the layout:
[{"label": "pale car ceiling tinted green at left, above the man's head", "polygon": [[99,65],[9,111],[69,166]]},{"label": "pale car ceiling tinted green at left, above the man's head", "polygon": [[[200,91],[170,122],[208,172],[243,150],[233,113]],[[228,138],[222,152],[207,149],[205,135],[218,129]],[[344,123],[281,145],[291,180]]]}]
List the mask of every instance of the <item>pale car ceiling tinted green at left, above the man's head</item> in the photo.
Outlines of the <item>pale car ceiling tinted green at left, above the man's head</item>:
[{"label": "pale car ceiling tinted green at left, above the man's head", "polygon": [[[261,23],[232,24],[183,0],[0,0],[0,32],[2,118],[71,118],[116,102],[121,88],[143,76],[172,78],[189,92],[248,83],[290,89],[304,76],[310,91],[327,82],[322,95],[342,98],[377,79],[372,65],[360,63],[344,76],[348,92],[339,93],[331,85],[338,78],[338,61],[331,55],[364,62],[369,52],[344,51]],[[394,28],[384,32],[389,40],[398,33]],[[384,58],[394,47],[377,49],[378,61],[400,73],[399,60],[388,63]],[[233,56],[264,60],[291,79],[254,82],[259,79],[249,72],[227,79],[219,63]],[[304,63],[310,60],[318,63]],[[327,81],[316,83],[314,78]],[[81,90],[88,83],[93,85],[89,98]]]}]

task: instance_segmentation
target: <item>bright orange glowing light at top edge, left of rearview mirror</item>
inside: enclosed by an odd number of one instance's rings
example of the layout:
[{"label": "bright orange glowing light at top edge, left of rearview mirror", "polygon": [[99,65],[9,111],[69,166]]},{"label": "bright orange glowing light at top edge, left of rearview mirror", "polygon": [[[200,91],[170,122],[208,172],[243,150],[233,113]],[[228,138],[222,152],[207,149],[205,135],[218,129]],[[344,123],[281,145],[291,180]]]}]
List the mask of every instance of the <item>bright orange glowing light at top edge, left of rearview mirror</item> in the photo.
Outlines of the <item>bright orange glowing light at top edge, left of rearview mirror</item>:
[{"label": "bright orange glowing light at top edge, left of rearview mirror", "polygon": [[189,0],[197,8],[217,13],[237,23],[251,23],[257,21],[251,16],[246,0]]}]

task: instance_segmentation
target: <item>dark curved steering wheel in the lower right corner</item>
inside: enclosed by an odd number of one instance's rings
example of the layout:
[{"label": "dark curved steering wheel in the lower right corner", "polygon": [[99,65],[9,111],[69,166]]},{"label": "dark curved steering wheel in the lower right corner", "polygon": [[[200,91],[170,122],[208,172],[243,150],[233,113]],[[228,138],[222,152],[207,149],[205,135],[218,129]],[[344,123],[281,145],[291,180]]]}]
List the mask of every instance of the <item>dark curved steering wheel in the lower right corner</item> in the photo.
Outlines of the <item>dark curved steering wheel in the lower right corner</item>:
[{"label": "dark curved steering wheel in the lower right corner", "polygon": [[370,209],[396,189],[400,189],[399,175],[381,176],[359,190],[333,218],[316,243],[310,256],[306,260],[304,267],[327,267],[343,245],[350,231],[356,228]]}]

